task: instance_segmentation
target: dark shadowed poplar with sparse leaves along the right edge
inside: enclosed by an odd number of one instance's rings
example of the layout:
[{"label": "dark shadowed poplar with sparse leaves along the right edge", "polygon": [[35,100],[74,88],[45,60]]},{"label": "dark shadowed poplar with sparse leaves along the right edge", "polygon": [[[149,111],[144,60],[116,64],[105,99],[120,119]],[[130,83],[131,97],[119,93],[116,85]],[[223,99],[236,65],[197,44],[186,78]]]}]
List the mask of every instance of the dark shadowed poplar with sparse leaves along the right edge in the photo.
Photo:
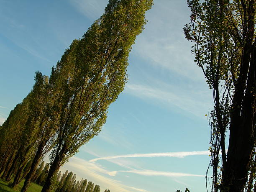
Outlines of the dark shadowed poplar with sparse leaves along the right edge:
[{"label": "dark shadowed poplar with sparse leaves along the right edge", "polygon": [[251,191],[256,182],[256,2],[187,2],[192,13],[184,32],[195,43],[195,62],[213,90],[215,103],[210,113],[212,191],[240,192],[246,183]]}]

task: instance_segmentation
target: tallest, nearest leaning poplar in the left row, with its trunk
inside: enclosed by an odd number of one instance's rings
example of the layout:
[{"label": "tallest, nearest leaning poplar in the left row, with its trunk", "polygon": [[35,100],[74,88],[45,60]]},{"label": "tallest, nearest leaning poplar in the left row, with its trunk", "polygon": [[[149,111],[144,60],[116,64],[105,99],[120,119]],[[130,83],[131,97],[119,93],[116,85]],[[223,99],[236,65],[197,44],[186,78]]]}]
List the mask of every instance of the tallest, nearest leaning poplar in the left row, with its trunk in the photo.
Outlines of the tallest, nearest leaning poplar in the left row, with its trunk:
[{"label": "tallest, nearest leaning poplar in the left row, with its trunk", "polygon": [[43,192],[50,190],[60,166],[100,132],[110,103],[127,81],[128,54],[152,1],[110,0],[102,17],[73,41],[53,68],[58,128]]}]

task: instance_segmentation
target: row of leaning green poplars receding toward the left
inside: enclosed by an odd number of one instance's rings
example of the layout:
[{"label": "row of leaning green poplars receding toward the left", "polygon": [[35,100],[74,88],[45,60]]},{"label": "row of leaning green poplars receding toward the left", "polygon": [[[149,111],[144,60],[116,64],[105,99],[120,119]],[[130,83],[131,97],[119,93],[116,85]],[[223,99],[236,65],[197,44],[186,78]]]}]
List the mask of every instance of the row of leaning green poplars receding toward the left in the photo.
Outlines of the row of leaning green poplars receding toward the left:
[{"label": "row of leaning green poplars receding toward the left", "polygon": [[105,13],[75,39],[50,77],[36,72],[31,92],[0,126],[0,175],[15,187],[32,182],[51,151],[42,191],[57,187],[59,168],[97,135],[127,81],[128,55],[153,0],[109,0]]}]

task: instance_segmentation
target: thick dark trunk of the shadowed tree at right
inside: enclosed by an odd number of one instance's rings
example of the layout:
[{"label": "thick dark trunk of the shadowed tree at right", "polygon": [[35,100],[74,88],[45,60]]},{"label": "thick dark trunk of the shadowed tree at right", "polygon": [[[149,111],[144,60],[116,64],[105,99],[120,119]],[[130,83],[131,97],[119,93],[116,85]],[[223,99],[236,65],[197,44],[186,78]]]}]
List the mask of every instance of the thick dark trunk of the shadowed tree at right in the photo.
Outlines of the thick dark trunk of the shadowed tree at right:
[{"label": "thick dark trunk of the shadowed tree at right", "polygon": [[[248,17],[248,36],[244,45],[241,69],[233,97],[233,109],[230,113],[230,140],[227,155],[227,167],[223,172],[223,192],[241,192],[246,185],[250,159],[253,153],[256,118],[255,105],[256,47],[253,43],[255,7],[250,1]],[[255,6],[255,4],[254,4]],[[250,23],[251,22],[251,23]]]}]

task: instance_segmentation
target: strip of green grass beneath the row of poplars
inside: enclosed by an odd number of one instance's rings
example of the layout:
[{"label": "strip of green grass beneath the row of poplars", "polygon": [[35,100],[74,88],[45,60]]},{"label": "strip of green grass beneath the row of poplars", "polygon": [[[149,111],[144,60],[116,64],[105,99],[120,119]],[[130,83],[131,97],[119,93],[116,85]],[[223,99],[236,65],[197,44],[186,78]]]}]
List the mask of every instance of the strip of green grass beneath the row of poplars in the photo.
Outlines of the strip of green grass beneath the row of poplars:
[{"label": "strip of green grass beneath the row of poplars", "polygon": [[[0,192],[20,192],[20,189],[22,188],[23,183],[24,183],[24,179],[22,180],[22,182],[20,182],[20,184],[18,184],[18,186],[15,189],[12,189],[8,187],[8,182],[5,182],[0,179]],[[41,192],[41,189],[42,189],[42,186],[35,183],[31,183],[27,192]]]}]

